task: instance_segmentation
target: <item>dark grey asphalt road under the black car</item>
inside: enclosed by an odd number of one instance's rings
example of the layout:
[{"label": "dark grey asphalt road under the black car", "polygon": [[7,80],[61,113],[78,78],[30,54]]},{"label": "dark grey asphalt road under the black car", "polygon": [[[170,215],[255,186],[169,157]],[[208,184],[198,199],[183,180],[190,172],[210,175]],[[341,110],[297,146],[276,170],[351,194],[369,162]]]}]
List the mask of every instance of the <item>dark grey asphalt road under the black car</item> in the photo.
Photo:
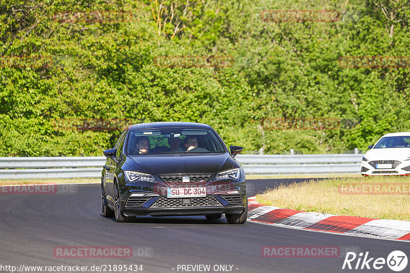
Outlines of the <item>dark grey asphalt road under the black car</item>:
[{"label": "dark grey asphalt road under the black car", "polygon": [[[303,179],[248,180],[249,195],[293,180]],[[359,252],[369,252],[369,258],[385,259],[392,251],[400,250],[410,258],[410,243],[401,241],[302,231],[250,221],[231,225],[224,218],[208,221],[200,216],[145,216],[133,223],[117,223],[100,213],[97,184],[70,186],[69,190],[57,194],[0,194],[0,271],[11,272],[7,265],[17,268],[20,265],[79,265],[88,266],[88,272],[96,271],[90,271],[93,265],[103,265],[101,271],[106,272],[120,272],[118,268],[113,270],[114,265],[142,265],[142,272],[146,273],[194,272],[193,267],[182,270],[182,265],[210,265],[209,271],[195,272],[355,271],[341,269],[343,257],[262,257],[261,248],[265,245],[350,246],[360,249]],[[121,259],[57,257],[55,249],[66,246],[125,246],[132,248],[133,256]],[[356,262],[357,259],[352,265],[356,266]],[[403,272],[409,268],[410,264]],[[387,265],[377,271],[392,272]]]}]

